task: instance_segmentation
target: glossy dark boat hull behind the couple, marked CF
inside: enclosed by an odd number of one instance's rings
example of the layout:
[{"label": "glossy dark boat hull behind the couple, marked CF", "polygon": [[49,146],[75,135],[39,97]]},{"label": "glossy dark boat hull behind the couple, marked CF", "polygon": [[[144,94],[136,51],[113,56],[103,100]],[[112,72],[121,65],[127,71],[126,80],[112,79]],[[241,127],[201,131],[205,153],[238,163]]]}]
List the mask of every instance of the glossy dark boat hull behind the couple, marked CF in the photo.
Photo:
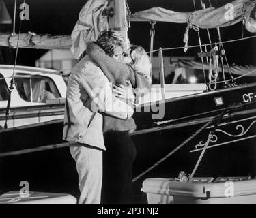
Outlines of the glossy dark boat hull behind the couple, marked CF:
[{"label": "glossy dark boat hull behind the couple, marked CF", "polygon": [[[137,147],[134,176],[165,157],[205,123],[210,120],[214,122],[182,149],[135,181],[136,196],[143,195],[140,189],[145,178],[175,177],[181,170],[192,172],[201,153],[200,141],[201,144],[206,142],[214,123],[223,112],[227,114],[218,125],[216,136],[210,142],[210,148],[205,152],[195,176],[254,176],[255,106],[256,84],[248,84],[169,99],[164,104],[161,119],[152,119],[152,114],[158,114],[156,110],[152,112],[156,107],[145,105],[141,108],[143,112],[134,114],[137,123],[137,131],[132,134]],[[44,125],[1,130],[0,153],[61,143],[62,129],[63,121],[51,121]],[[31,190],[78,196],[77,179],[75,163],[68,147],[0,157],[1,193],[20,189],[20,181],[29,181]]]}]

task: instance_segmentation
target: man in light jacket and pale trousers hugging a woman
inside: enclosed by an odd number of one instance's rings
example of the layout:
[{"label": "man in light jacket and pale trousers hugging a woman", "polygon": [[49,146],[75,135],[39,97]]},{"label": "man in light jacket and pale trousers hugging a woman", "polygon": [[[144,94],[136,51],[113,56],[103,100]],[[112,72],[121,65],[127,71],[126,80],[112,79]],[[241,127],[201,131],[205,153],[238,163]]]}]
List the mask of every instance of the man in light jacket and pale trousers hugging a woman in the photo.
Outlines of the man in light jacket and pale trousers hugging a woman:
[{"label": "man in light jacket and pale trousers hugging a woman", "polygon": [[[125,43],[119,34],[108,31],[98,40],[105,43],[111,57],[119,59],[123,55]],[[79,174],[79,204],[100,204],[105,149],[101,112],[129,119],[133,108],[112,94],[109,80],[85,55],[68,80],[63,128],[63,139],[70,142],[70,153]]]}]

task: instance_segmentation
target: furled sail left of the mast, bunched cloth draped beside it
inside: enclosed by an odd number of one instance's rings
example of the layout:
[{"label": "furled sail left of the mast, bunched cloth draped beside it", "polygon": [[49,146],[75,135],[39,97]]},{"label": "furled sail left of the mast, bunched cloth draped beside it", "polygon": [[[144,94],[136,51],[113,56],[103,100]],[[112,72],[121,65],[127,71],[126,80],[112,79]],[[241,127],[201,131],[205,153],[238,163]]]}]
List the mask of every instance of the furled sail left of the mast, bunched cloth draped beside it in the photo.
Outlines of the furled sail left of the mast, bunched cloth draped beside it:
[{"label": "furled sail left of the mast, bunched cloth draped beside it", "polygon": [[79,20],[72,35],[36,35],[35,33],[18,34],[0,33],[0,46],[16,48],[71,49],[78,58],[86,48],[87,42],[96,40],[100,31],[108,28],[107,17],[102,15],[108,1],[89,0],[79,13]]}]

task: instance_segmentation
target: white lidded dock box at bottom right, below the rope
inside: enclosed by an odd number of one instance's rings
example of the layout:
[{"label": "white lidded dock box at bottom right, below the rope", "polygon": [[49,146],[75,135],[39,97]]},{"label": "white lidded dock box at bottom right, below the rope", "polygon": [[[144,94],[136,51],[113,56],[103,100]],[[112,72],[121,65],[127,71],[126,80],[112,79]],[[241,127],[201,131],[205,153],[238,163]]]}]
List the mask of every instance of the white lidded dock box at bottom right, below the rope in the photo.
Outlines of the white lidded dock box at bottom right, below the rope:
[{"label": "white lidded dock box at bottom right, below the rope", "polygon": [[186,183],[147,178],[141,190],[147,193],[148,204],[256,204],[256,179],[216,181]]}]

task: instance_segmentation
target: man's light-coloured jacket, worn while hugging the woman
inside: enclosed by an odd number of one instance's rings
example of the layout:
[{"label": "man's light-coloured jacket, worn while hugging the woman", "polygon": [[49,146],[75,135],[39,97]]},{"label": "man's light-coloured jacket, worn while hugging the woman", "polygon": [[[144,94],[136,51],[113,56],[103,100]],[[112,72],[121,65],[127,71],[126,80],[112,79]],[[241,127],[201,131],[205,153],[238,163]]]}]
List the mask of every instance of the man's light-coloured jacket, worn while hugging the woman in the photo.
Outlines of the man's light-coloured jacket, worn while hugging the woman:
[{"label": "man's light-coloured jacket, worn while hugging the woman", "polygon": [[105,149],[102,112],[129,119],[132,106],[112,94],[112,85],[89,56],[76,64],[68,79],[63,140]]}]

